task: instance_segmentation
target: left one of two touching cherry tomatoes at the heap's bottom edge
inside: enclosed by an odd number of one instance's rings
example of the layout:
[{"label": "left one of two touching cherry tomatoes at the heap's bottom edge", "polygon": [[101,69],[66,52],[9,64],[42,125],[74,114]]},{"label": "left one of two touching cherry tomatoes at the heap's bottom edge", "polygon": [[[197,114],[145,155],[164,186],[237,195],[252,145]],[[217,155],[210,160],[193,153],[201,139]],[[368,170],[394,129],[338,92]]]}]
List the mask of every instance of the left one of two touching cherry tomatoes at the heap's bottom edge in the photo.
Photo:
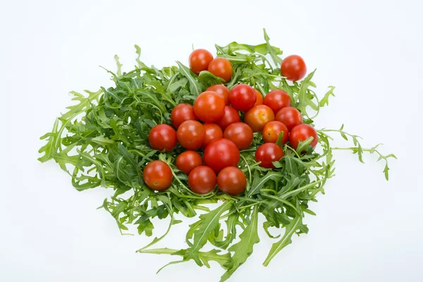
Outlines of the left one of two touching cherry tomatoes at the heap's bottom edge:
[{"label": "left one of two touching cherry tomatoes at the heap's bottom edge", "polygon": [[188,185],[197,194],[212,192],[216,187],[216,173],[208,166],[197,166],[188,176]]}]

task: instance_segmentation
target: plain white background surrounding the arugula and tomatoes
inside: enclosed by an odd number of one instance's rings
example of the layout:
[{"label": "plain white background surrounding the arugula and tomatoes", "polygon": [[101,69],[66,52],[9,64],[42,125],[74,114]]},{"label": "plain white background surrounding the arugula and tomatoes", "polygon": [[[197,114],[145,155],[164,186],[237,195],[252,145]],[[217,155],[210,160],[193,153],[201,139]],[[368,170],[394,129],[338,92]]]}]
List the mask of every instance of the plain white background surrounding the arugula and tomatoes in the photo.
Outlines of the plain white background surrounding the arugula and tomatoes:
[{"label": "plain white background surrounding the arugula and tomatoes", "polygon": [[[53,161],[37,161],[38,138],[71,103],[69,91],[111,85],[99,65],[114,70],[118,54],[130,70],[134,44],[161,67],[187,63],[192,44],[262,43],[263,27],[284,54],[318,68],[319,94],[336,85],[317,128],[345,123],[398,161],[387,182],[375,156],[360,164],[337,152],[337,176],[305,219],[309,234],[264,268],[272,241],[261,232],[231,281],[423,281],[422,8],[417,0],[1,1],[0,281],[218,281],[217,264],[156,275],[173,257],[135,254],[151,238],[121,236],[96,210],[111,191],[74,190]],[[175,226],[159,247],[184,247],[186,230]]]}]

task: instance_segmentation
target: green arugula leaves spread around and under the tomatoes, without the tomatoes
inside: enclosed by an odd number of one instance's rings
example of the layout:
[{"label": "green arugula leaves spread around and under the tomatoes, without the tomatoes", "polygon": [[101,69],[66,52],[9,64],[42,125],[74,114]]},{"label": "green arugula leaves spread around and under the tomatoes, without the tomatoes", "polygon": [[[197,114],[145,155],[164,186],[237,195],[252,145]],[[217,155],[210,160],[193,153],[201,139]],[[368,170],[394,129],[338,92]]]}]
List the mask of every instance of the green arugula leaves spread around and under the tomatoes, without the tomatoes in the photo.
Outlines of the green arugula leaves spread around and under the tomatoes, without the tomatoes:
[{"label": "green arugula leaves spread around and under the tomatoes, without the tomatoes", "polygon": [[[262,93],[285,90],[305,123],[312,124],[319,110],[329,105],[335,87],[329,87],[319,99],[312,82],[315,71],[300,82],[288,83],[279,68],[281,49],[269,44],[265,30],[264,39],[264,44],[255,46],[237,42],[225,47],[216,45],[217,56],[233,64],[233,78],[227,86],[231,89],[238,83],[246,83]],[[168,218],[166,233],[137,252],[180,257],[170,264],[192,259],[199,266],[209,267],[209,262],[218,262],[226,270],[221,277],[221,281],[225,281],[259,243],[259,214],[265,218],[264,231],[276,240],[264,266],[291,243],[294,234],[307,233],[303,219],[305,214],[314,215],[308,203],[317,202],[317,194],[324,193],[326,181],[334,176],[334,149],[351,150],[360,161],[364,152],[378,154],[379,160],[386,161],[384,173],[388,180],[388,159],[396,157],[381,154],[379,145],[362,148],[360,137],[346,133],[341,126],[338,130],[317,130],[319,152],[309,146],[311,138],[301,142],[296,150],[284,145],[285,157],[275,163],[273,170],[261,168],[255,161],[255,150],[262,144],[261,135],[255,133],[252,146],[240,152],[239,167],[247,176],[245,193],[234,197],[216,189],[207,195],[195,195],[188,188],[187,176],[175,166],[182,148],[176,147],[168,153],[157,152],[149,147],[148,134],[154,125],[171,123],[174,106],[192,104],[207,87],[221,84],[221,79],[208,71],[197,76],[180,62],[178,66],[160,70],[148,67],[140,61],[140,47],[135,46],[135,49],[137,66],[133,71],[122,73],[122,65],[115,57],[118,71],[108,71],[113,75],[114,87],[101,87],[98,92],[85,91],[86,94],[72,92],[77,103],[68,106],[68,111],[56,119],[51,132],[41,137],[47,144],[39,149],[42,153],[39,161],[54,159],[71,175],[72,185],[79,191],[97,187],[113,189],[114,195],[105,199],[101,208],[116,219],[122,233],[133,224],[138,233],[152,236],[152,219]],[[331,147],[331,133],[352,140],[353,147]],[[166,161],[173,171],[171,188],[162,192],[149,190],[142,180],[142,168],[155,159]],[[204,206],[210,203],[219,204],[210,210]],[[152,249],[174,224],[181,222],[174,218],[175,214],[198,216],[198,221],[190,225],[186,234],[187,247],[183,250]],[[269,228],[283,231],[274,236]],[[214,248],[205,251],[207,243]]]}]

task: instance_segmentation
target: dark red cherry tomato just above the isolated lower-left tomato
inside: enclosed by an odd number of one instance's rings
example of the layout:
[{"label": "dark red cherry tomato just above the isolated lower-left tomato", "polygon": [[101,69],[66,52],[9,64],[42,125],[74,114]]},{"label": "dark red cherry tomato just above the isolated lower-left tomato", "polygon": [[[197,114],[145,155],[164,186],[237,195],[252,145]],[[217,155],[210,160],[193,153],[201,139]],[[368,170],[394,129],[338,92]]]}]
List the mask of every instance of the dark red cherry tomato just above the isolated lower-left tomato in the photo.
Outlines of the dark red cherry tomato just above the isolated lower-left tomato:
[{"label": "dark red cherry tomato just above the isolated lower-left tomato", "polygon": [[176,146],[176,132],[167,124],[159,124],[150,130],[148,141],[153,149],[171,151]]}]

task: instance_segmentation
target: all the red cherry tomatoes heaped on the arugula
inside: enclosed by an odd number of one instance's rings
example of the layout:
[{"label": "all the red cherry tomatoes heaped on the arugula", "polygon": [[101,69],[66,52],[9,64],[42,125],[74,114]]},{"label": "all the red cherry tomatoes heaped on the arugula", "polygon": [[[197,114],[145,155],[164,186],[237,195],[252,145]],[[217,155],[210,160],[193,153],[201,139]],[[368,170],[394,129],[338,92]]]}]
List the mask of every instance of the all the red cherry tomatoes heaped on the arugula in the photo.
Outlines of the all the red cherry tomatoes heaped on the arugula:
[{"label": "all the red cherry tomatoes heaped on the arugula", "polygon": [[[190,69],[198,75],[209,71],[226,82],[232,77],[232,64],[225,58],[213,58],[204,49],[190,54]],[[288,80],[300,80],[307,68],[300,56],[288,56],[281,63],[281,73]],[[241,121],[243,112],[244,121]],[[250,85],[213,85],[195,99],[194,105],[178,104],[171,112],[172,125],[159,124],[149,133],[152,149],[171,151],[179,142],[186,149],[176,158],[176,167],[188,175],[192,192],[207,194],[216,187],[229,195],[245,190],[247,180],[238,168],[240,151],[252,144],[253,133],[262,133],[264,144],[255,152],[255,161],[263,168],[275,168],[274,161],[283,157],[276,145],[283,133],[282,145],[289,141],[297,149],[300,141],[317,132],[302,123],[302,115],[291,106],[290,96],[283,90],[271,90],[264,97]],[[201,123],[202,122],[202,123]],[[202,155],[199,152],[202,152]],[[152,190],[165,190],[173,180],[171,168],[164,161],[151,161],[145,166],[143,178]]]}]

